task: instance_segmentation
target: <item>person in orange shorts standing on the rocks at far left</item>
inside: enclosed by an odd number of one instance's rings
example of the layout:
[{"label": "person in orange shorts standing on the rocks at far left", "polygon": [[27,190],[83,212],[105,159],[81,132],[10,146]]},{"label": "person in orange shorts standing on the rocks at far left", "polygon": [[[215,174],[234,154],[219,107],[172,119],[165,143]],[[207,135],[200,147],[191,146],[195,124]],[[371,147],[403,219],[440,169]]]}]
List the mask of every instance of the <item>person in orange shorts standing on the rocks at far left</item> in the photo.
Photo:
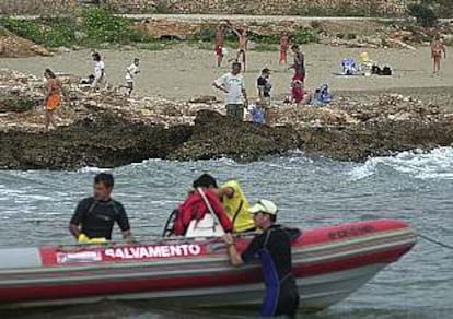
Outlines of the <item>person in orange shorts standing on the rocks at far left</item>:
[{"label": "person in orange shorts standing on the rocks at far left", "polygon": [[44,71],[44,78],[46,78],[47,81],[44,107],[46,110],[46,131],[48,131],[50,125],[53,125],[54,128],[57,128],[54,119],[54,113],[61,105],[62,84],[50,69],[46,69]]}]

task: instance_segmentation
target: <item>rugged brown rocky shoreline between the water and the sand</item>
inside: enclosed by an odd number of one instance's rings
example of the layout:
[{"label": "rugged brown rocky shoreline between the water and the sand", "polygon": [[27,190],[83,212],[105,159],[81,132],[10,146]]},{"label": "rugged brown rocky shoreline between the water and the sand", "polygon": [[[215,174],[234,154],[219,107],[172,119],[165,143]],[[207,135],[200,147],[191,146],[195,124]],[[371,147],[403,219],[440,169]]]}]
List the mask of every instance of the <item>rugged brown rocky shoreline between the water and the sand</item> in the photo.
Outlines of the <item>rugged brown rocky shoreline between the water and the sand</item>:
[{"label": "rugged brown rocky shoreline between the water and the sand", "polygon": [[444,104],[400,94],[338,94],[328,107],[280,105],[275,123],[258,127],[224,117],[214,98],[127,99],[115,92],[89,94],[68,79],[72,102],[58,116],[59,127],[46,132],[39,79],[0,72],[1,168],[117,167],[148,158],[255,161],[295,149],[365,161],[453,143],[452,93]]}]

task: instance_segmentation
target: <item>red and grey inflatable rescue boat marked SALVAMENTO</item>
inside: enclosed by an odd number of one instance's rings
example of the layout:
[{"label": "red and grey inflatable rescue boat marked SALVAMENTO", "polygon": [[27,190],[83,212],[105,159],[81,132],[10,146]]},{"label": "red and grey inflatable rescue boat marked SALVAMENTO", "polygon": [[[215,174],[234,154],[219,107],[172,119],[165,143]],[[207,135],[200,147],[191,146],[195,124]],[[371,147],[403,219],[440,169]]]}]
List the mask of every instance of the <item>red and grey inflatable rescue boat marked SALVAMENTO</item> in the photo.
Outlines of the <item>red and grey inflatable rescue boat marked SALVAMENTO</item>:
[{"label": "red and grey inflatable rescue boat marked SALVAMENTO", "polygon": [[[417,235],[395,220],[303,231],[292,247],[301,307],[323,309],[344,299],[408,252]],[[249,239],[242,237],[237,246]],[[103,299],[258,306],[263,295],[259,264],[231,267],[219,238],[0,249],[0,307]]]}]

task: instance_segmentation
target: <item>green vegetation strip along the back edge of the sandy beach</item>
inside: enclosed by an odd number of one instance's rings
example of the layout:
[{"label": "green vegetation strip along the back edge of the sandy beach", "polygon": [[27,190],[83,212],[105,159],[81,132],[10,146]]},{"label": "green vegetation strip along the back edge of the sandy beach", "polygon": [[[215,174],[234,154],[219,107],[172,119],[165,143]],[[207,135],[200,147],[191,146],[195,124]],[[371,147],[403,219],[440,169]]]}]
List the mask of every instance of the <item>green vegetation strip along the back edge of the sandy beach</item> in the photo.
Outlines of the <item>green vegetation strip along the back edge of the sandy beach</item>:
[{"label": "green vegetation strip along the back edge of the sandy beach", "polygon": [[[133,27],[130,20],[113,14],[102,8],[90,8],[77,11],[72,16],[47,17],[38,20],[20,20],[3,17],[0,28],[33,40],[49,48],[55,47],[92,47],[102,48],[112,45],[133,45],[141,49],[162,50],[175,44],[174,40],[154,39],[144,32]],[[292,35],[294,43],[306,44],[317,42],[317,33],[312,28],[297,29]],[[256,43],[255,50],[277,50],[280,36],[249,33]],[[199,48],[212,50],[216,28],[204,28],[188,38],[190,44]],[[233,32],[225,32],[225,45],[236,47],[237,37]]]}]

